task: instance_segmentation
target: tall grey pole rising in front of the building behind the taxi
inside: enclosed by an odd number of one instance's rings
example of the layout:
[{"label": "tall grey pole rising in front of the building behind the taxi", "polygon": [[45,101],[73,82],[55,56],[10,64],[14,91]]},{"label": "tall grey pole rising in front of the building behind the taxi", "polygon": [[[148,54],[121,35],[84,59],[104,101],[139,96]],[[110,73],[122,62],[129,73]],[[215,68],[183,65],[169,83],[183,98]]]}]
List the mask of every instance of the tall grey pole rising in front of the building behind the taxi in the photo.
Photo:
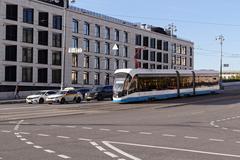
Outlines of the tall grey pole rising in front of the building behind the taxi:
[{"label": "tall grey pole rising in front of the building behind the taxi", "polygon": [[67,14],[67,8],[70,3],[74,3],[75,0],[66,0],[66,4],[64,5],[64,10],[63,10],[63,48],[62,48],[62,72],[61,72],[61,90],[64,88],[64,77],[65,77],[65,55],[67,52],[66,49],[66,29],[67,29],[67,19],[66,19],[66,14]]}]

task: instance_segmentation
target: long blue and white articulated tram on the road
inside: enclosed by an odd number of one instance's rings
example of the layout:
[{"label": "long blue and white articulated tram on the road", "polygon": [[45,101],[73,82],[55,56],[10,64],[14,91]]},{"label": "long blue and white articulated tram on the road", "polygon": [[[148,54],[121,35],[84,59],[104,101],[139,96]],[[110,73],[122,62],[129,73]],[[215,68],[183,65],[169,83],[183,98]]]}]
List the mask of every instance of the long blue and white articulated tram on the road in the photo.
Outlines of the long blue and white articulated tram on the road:
[{"label": "long blue and white articulated tram on the road", "polygon": [[213,70],[118,69],[113,102],[130,103],[218,93],[219,73]]}]

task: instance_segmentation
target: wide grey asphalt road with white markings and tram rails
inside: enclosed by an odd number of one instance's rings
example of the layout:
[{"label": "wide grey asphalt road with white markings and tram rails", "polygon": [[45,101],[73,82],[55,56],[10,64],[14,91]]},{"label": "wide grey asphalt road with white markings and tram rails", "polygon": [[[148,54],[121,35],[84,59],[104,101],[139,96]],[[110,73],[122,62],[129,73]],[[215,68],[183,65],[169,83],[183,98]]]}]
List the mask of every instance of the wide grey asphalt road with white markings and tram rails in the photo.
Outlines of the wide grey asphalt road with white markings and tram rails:
[{"label": "wide grey asphalt road with white markings and tram rails", "polygon": [[4,160],[240,159],[240,90],[138,104],[0,106]]}]

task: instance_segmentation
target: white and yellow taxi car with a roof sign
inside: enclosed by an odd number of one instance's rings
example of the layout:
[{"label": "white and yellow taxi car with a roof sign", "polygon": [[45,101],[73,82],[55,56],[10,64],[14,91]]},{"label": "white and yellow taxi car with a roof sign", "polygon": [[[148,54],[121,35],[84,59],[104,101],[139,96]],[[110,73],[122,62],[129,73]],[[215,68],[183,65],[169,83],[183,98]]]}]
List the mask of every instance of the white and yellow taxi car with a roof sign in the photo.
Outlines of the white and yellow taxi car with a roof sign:
[{"label": "white and yellow taxi car with a roof sign", "polygon": [[48,104],[60,103],[64,104],[66,102],[76,102],[80,103],[83,99],[82,94],[78,93],[76,90],[60,90],[56,94],[50,95],[46,98]]}]

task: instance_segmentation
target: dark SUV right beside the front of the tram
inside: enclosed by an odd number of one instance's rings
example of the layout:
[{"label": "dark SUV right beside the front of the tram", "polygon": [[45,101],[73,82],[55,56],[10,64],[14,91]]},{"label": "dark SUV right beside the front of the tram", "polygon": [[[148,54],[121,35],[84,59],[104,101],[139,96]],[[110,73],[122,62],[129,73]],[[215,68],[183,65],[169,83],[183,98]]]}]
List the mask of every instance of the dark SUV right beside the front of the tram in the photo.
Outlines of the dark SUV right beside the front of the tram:
[{"label": "dark SUV right beside the front of the tram", "polygon": [[105,98],[110,98],[112,100],[113,97],[113,86],[96,86],[91,91],[85,94],[85,99],[87,101],[90,100],[98,100],[101,101]]}]

